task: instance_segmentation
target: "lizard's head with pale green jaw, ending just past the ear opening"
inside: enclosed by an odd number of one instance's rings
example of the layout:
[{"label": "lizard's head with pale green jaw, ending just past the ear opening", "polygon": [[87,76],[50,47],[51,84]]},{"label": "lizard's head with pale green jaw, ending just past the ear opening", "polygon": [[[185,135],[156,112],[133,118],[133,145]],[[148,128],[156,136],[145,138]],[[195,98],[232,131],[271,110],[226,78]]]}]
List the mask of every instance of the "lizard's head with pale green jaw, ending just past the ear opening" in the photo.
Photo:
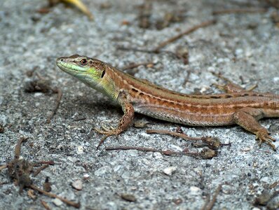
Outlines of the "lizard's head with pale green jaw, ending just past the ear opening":
[{"label": "lizard's head with pale green jaw, ending just past the ear opening", "polygon": [[104,62],[81,55],[58,57],[56,64],[62,71],[95,89],[99,89],[106,69]]}]

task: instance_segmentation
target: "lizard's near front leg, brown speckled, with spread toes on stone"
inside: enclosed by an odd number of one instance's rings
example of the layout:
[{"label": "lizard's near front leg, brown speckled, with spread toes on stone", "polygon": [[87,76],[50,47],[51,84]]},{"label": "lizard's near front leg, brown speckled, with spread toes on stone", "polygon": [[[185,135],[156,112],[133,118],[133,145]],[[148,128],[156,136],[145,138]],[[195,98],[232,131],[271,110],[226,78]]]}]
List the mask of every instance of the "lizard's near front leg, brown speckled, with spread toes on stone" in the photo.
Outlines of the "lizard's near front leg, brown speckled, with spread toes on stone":
[{"label": "lizard's near front leg, brown speckled, with spread toes on stone", "polygon": [[118,102],[120,102],[122,110],[124,112],[124,115],[118,122],[118,126],[116,128],[114,127],[102,127],[102,130],[99,130],[95,128],[95,131],[99,134],[104,134],[105,136],[101,139],[100,143],[98,144],[97,148],[99,148],[103,143],[104,140],[107,139],[107,137],[115,135],[116,137],[121,132],[128,129],[128,127],[132,124],[132,120],[135,115],[134,108],[130,102],[128,102],[128,99],[126,97],[125,92],[120,92],[118,95]]}]

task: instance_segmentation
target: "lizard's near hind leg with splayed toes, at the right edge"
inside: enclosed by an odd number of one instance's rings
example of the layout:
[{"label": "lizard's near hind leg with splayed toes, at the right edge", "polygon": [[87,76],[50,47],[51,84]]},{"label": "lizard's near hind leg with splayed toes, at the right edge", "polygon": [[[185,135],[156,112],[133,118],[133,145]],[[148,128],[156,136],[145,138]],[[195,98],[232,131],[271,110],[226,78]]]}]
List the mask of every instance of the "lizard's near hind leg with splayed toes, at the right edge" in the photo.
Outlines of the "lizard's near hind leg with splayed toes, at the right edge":
[{"label": "lizard's near hind leg with splayed toes, at the right edge", "polygon": [[233,116],[236,124],[243,127],[245,130],[256,134],[256,139],[259,140],[259,146],[262,142],[266,142],[275,151],[275,146],[272,141],[275,141],[270,135],[265,127],[262,127],[258,120],[264,118],[264,111],[261,109],[254,109],[250,107],[245,107],[239,109]]}]

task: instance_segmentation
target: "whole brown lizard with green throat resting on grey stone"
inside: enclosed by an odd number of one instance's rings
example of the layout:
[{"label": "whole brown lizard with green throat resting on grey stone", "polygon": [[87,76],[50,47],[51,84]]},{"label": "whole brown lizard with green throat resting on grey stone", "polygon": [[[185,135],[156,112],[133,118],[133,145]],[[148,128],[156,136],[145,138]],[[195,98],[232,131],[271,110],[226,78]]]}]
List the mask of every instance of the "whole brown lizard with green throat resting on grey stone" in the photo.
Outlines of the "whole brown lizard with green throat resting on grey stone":
[{"label": "whole brown lizard with green throat resting on grey stone", "polygon": [[184,94],[135,78],[115,67],[81,55],[59,57],[57,66],[89,87],[107,95],[122,107],[117,127],[95,129],[104,139],[128,129],[135,112],[172,123],[191,126],[240,125],[275,151],[275,141],[258,122],[261,118],[279,118],[279,94],[245,90],[233,83],[224,85],[221,94]]}]

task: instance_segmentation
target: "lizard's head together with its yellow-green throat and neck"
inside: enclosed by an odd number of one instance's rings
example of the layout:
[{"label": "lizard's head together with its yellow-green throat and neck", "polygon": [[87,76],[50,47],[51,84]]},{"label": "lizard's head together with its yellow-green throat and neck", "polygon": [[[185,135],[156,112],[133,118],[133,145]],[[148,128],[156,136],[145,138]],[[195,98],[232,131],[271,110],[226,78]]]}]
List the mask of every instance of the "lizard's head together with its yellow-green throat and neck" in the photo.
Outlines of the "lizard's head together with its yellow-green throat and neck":
[{"label": "lizard's head together with its yellow-green throat and neck", "polygon": [[114,80],[109,76],[106,63],[86,56],[72,55],[57,58],[56,64],[62,71],[78,78],[86,85],[107,94],[112,99],[117,98]]}]

